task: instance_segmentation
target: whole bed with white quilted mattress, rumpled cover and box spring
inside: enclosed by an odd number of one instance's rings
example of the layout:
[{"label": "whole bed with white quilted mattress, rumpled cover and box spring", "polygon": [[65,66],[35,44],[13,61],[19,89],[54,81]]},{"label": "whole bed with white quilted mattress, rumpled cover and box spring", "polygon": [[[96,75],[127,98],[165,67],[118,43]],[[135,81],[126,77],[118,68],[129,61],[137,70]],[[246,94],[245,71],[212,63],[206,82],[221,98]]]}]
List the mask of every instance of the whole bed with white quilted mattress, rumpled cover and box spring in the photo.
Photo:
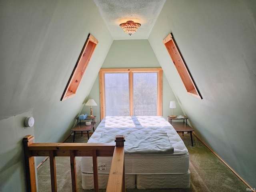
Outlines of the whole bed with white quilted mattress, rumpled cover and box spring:
[{"label": "whole bed with white quilted mattress, rumpled cover and box spring", "polygon": [[[118,134],[126,136],[126,188],[190,188],[188,150],[165,118],[106,116],[88,143],[114,142]],[[106,188],[111,161],[112,157],[98,157],[100,189]],[[82,188],[93,189],[92,157],[81,158],[81,170]]]}]

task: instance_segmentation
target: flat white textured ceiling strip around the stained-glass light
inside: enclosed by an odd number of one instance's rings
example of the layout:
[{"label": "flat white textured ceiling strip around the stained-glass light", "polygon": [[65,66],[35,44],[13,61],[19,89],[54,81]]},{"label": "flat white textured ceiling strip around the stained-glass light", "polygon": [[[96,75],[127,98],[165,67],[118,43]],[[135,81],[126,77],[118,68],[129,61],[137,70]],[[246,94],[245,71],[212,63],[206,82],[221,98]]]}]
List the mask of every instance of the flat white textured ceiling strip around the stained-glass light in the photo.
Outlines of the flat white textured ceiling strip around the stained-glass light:
[{"label": "flat white textured ceiling strip around the stained-glass light", "polygon": [[[114,40],[148,39],[166,0],[94,0]],[[119,24],[140,23],[137,32],[126,34]]]}]

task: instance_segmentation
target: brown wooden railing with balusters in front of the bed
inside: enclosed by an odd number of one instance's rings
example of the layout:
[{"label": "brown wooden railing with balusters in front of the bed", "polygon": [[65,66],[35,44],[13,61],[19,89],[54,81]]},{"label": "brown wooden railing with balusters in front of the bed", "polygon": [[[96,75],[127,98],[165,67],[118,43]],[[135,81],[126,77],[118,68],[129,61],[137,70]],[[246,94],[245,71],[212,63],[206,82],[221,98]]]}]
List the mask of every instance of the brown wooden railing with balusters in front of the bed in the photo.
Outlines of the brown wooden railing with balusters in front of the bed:
[{"label": "brown wooden railing with balusters in front of the bed", "polygon": [[125,192],[124,180],[124,141],[123,135],[116,136],[116,145],[107,143],[33,143],[34,136],[23,138],[26,180],[28,192],[36,192],[35,156],[50,157],[50,174],[52,192],[57,191],[56,182],[56,156],[70,156],[72,192],[77,192],[76,182],[76,156],[92,156],[94,174],[94,192],[98,187],[99,156],[113,156],[106,192]]}]

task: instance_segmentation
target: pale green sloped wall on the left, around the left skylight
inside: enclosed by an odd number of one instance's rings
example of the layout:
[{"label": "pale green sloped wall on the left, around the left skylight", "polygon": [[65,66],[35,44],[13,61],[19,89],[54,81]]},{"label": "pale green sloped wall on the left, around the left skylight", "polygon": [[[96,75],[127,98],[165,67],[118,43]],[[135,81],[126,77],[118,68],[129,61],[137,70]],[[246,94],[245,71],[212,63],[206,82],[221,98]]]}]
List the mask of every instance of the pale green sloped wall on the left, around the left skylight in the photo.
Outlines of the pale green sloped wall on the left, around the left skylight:
[{"label": "pale green sloped wall on the left, around the left skylight", "polygon": [[[16,136],[24,125],[14,117],[31,111],[34,142],[62,142],[113,40],[93,1],[1,1],[0,26],[0,191],[25,191],[20,138],[28,133]],[[99,43],[76,96],[60,101],[89,33]]]}]

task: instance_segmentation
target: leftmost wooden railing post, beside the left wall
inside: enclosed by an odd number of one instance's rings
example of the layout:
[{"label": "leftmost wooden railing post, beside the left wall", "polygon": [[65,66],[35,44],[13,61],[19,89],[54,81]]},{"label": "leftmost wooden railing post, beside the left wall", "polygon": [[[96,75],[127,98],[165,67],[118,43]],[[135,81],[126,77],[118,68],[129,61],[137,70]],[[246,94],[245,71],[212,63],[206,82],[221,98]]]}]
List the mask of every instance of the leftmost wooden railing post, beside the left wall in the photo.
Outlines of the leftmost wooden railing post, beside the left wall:
[{"label": "leftmost wooden railing post, beside the left wall", "polygon": [[23,138],[24,146],[24,157],[25,157],[25,168],[26,168],[26,181],[27,181],[27,191],[36,192],[36,170],[34,157],[31,156],[28,146],[33,143],[34,137],[32,135],[27,135]]}]

